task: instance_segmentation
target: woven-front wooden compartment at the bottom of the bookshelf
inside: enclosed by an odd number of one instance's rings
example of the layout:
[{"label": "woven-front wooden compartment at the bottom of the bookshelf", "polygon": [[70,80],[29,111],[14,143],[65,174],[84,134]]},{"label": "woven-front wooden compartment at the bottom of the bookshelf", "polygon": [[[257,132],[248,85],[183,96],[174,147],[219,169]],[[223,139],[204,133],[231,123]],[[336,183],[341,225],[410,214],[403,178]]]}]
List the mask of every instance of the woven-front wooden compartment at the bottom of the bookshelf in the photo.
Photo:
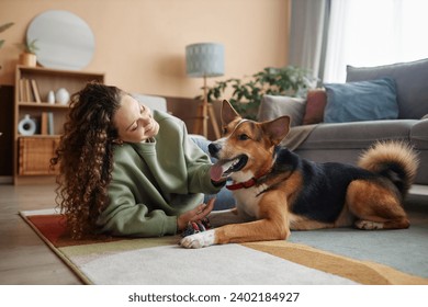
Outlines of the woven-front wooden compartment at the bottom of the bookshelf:
[{"label": "woven-front wooden compartment at the bottom of the bookshelf", "polygon": [[59,144],[59,137],[20,137],[18,173],[25,175],[56,174],[50,169],[50,158]]}]

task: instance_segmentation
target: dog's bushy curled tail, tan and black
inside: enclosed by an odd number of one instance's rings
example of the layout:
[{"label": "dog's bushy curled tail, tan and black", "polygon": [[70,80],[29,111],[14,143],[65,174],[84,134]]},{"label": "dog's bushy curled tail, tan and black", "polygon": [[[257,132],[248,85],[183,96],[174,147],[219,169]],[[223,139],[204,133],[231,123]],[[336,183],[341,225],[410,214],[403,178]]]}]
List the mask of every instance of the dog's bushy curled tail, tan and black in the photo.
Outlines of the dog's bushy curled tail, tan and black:
[{"label": "dog's bushy curled tail, tan and black", "polygon": [[414,182],[419,159],[405,141],[378,141],[364,151],[358,166],[390,179],[404,197]]}]

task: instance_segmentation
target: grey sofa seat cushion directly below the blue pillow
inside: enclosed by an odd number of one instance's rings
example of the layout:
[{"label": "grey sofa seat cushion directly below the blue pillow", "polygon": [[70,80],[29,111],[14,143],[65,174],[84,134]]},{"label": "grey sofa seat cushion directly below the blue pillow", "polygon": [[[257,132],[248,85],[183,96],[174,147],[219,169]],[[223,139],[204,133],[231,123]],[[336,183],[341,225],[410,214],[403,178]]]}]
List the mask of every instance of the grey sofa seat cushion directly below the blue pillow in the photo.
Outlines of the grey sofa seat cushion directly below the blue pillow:
[{"label": "grey sofa seat cushion directly below the blue pillow", "polygon": [[318,124],[299,149],[364,149],[376,140],[409,140],[413,126],[419,122],[390,120]]}]

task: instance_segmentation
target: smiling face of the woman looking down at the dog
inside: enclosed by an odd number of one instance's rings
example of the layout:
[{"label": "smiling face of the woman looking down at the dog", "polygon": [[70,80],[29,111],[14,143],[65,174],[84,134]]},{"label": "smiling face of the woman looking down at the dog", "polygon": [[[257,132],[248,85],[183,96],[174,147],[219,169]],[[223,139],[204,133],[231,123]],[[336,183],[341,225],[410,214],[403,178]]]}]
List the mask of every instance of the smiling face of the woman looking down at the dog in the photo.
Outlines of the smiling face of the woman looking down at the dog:
[{"label": "smiling face of the woman looking down at the dog", "polygon": [[127,94],[122,96],[113,122],[119,130],[119,139],[127,143],[144,141],[159,132],[159,124],[153,118],[151,111]]}]

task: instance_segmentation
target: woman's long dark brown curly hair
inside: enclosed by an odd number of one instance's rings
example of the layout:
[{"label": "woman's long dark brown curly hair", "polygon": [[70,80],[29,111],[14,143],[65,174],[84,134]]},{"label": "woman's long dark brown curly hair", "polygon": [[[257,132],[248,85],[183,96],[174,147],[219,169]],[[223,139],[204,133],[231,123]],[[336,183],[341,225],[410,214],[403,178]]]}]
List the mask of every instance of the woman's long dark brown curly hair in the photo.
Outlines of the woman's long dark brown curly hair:
[{"label": "woman's long dark brown curly hair", "polygon": [[95,230],[97,219],[109,204],[106,187],[117,138],[113,115],[124,94],[116,87],[91,82],[71,96],[64,134],[50,166],[59,166],[56,202],[75,239]]}]

